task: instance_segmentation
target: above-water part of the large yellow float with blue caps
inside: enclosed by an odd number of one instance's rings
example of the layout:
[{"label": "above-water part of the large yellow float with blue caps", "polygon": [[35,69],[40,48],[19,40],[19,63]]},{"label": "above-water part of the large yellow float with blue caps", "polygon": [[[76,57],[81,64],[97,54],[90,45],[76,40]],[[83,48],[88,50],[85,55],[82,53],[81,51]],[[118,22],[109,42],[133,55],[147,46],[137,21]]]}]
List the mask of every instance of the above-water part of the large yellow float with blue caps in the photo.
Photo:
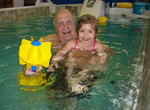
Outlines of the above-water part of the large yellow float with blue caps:
[{"label": "above-water part of the large yellow float with blue caps", "polygon": [[32,67],[33,71],[40,71],[40,65],[44,67],[49,66],[51,58],[51,43],[43,42],[43,38],[35,41],[31,36],[31,41],[22,39],[19,47],[19,63],[27,65],[27,70]]}]

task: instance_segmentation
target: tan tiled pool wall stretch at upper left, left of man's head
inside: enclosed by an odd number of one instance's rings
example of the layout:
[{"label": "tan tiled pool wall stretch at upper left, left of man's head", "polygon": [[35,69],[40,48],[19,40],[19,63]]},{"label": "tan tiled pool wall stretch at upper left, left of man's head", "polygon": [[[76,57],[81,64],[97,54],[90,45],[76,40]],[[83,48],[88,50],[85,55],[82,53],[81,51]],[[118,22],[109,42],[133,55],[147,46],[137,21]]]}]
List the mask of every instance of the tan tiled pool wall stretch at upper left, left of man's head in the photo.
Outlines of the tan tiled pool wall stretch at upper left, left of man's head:
[{"label": "tan tiled pool wall stretch at upper left, left of man's head", "polygon": [[17,8],[0,9],[0,20],[17,18],[23,15],[50,13],[49,6],[26,6]]}]

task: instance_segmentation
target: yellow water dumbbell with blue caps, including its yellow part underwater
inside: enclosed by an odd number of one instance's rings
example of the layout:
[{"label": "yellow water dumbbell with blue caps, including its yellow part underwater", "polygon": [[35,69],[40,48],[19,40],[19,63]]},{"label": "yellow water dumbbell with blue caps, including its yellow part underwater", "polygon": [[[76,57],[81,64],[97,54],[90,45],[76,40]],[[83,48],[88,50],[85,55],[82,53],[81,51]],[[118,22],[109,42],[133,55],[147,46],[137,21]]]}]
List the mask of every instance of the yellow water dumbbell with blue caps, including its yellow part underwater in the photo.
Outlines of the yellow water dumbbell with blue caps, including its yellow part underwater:
[{"label": "yellow water dumbbell with blue caps, including its yellow part underwater", "polygon": [[17,75],[20,89],[25,91],[35,92],[44,89],[45,86],[54,82],[52,75],[47,79],[46,73],[40,72],[40,66],[48,67],[51,59],[51,43],[43,42],[43,38],[35,41],[31,36],[31,41],[22,39],[19,47],[19,63],[27,65],[27,70],[32,68],[32,71],[39,71],[37,75],[26,76],[23,72]]}]

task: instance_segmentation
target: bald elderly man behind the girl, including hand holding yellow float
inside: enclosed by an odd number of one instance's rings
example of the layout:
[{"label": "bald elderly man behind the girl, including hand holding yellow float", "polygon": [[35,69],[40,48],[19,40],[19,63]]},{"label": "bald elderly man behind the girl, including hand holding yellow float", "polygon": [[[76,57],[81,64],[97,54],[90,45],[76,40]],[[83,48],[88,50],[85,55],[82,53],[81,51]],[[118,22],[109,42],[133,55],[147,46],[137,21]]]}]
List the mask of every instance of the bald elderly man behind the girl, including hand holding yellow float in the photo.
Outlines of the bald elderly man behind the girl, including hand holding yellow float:
[{"label": "bald elderly man behind the girl, including hand holding yellow float", "polygon": [[[76,39],[75,32],[75,18],[71,12],[67,9],[61,9],[55,13],[53,18],[53,25],[56,34],[49,34],[44,37],[44,42],[51,42],[52,50],[59,50],[69,40]],[[23,69],[25,75],[38,74],[38,71],[32,72],[32,70],[26,70],[26,66]]]}]

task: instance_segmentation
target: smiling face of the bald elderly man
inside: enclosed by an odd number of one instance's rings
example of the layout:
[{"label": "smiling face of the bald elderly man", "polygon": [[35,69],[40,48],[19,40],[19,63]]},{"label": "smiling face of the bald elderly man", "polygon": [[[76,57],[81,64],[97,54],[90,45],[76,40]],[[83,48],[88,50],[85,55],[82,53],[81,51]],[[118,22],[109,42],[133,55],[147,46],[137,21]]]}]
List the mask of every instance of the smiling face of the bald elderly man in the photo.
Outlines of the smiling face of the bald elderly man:
[{"label": "smiling face of the bald elderly man", "polygon": [[55,17],[55,31],[64,43],[75,37],[75,21],[68,11],[61,11]]}]

